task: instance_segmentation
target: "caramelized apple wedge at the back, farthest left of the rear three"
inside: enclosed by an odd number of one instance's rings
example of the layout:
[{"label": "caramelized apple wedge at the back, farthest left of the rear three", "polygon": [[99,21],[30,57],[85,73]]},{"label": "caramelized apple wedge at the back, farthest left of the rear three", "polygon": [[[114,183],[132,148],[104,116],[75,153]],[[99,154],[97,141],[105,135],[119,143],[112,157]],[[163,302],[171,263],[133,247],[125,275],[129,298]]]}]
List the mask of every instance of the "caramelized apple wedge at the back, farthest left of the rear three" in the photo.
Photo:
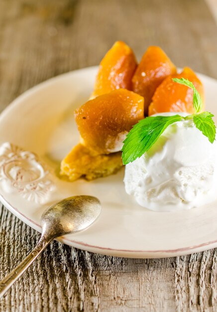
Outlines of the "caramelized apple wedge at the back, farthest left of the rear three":
[{"label": "caramelized apple wedge at the back, farthest left of the rear three", "polygon": [[122,41],[116,41],[100,63],[92,97],[123,88],[131,90],[136,69],[133,51]]}]

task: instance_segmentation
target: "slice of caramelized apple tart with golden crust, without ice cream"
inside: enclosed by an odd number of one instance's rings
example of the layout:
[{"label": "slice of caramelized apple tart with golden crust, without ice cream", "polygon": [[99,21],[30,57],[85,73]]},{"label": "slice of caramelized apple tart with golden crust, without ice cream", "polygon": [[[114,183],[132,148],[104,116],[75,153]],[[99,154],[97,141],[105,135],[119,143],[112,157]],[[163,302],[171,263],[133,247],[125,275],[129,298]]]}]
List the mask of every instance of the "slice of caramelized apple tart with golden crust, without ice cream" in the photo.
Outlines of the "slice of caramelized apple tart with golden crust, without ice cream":
[{"label": "slice of caramelized apple tart with golden crust, without ice cream", "polygon": [[62,160],[60,174],[71,181],[113,174],[123,166],[123,141],[138,121],[161,112],[191,113],[193,90],[172,81],[180,75],[203,97],[196,74],[189,68],[177,74],[160,47],[148,47],[137,65],[132,49],[115,42],[100,63],[90,100],[75,111],[80,142]]}]

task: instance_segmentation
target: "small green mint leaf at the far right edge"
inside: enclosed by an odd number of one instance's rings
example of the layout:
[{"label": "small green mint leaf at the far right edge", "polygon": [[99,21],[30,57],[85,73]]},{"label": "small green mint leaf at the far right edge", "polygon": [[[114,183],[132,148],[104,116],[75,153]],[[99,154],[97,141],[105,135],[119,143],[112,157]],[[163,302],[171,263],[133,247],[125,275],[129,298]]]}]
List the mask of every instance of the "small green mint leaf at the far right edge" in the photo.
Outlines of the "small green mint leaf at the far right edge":
[{"label": "small green mint leaf at the far right edge", "polygon": [[212,119],[213,114],[204,112],[198,115],[194,115],[193,121],[196,128],[202,131],[203,135],[208,137],[211,143],[214,143],[216,138],[216,125]]}]

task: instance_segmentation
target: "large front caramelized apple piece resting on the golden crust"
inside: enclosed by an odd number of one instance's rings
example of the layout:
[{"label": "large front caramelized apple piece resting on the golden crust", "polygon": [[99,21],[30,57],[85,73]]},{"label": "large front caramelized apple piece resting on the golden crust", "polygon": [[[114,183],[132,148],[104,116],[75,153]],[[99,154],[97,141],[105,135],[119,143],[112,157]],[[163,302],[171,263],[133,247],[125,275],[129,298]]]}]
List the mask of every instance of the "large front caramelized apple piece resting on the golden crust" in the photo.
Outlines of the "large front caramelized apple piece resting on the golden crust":
[{"label": "large front caramelized apple piece resting on the golden crust", "polygon": [[75,111],[81,143],[96,154],[120,151],[126,134],[143,118],[143,97],[126,89],[98,96]]}]

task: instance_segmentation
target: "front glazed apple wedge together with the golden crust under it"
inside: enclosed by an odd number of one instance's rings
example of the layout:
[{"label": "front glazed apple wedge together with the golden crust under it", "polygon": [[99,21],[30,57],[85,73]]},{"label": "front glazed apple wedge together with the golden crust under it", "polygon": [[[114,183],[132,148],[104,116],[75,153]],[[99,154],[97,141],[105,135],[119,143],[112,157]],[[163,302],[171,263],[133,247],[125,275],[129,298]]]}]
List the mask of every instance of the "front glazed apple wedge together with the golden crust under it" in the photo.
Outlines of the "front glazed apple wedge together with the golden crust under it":
[{"label": "front glazed apple wedge together with the golden crust under it", "polygon": [[115,173],[122,166],[122,142],[144,118],[144,99],[118,89],[88,101],[75,111],[81,142],[61,162],[61,175],[89,180]]}]

